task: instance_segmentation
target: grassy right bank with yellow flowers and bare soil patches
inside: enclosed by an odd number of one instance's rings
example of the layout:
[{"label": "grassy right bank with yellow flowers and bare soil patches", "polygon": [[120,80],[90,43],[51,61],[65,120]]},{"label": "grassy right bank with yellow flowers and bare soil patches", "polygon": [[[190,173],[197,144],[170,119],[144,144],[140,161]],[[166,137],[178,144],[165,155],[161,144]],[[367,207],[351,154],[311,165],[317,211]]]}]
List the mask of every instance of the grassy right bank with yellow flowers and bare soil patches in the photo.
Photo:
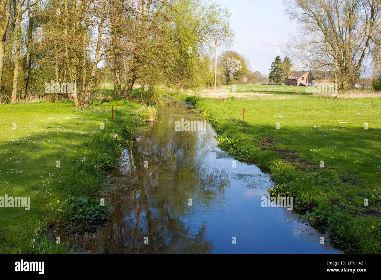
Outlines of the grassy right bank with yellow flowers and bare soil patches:
[{"label": "grassy right bank with yellow flowers and bare soil patches", "polygon": [[294,197],[302,218],[326,226],[347,251],[380,253],[381,100],[284,91],[187,100],[215,127],[219,146],[269,169],[271,196]]}]

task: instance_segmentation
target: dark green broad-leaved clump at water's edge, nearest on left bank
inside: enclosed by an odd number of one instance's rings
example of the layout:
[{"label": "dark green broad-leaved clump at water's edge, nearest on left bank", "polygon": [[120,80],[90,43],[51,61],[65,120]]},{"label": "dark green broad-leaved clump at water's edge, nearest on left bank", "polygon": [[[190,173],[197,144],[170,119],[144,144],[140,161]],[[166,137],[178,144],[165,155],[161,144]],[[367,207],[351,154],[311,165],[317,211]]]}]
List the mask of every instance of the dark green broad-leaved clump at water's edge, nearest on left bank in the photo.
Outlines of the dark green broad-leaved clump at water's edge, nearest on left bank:
[{"label": "dark green broad-leaved clump at water's edge, nearest on left bank", "polygon": [[[60,202],[58,201],[58,203]],[[107,219],[109,217],[109,204],[101,205],[96,197],[72,196],[58,205],[57,211],[68,221],[90,223]]]}]

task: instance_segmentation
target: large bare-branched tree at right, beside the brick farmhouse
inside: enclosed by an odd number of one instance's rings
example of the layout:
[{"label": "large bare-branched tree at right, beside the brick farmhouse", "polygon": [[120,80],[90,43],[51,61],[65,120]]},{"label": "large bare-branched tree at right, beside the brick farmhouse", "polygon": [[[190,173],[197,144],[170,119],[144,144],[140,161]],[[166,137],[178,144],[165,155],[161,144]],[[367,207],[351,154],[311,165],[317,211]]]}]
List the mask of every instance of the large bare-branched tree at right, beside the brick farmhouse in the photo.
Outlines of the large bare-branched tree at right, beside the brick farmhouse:
[{"label": "large bare-branched tree at right, beside the brick farmhouse", "polygon": [[[311,69],[331,72],[347,90],[359,77],[364,58],[380,47],[379,0],[284,0],[301,32],[291,38],[290,55]],[[329,77],[327,77],[328,79]]]}]

